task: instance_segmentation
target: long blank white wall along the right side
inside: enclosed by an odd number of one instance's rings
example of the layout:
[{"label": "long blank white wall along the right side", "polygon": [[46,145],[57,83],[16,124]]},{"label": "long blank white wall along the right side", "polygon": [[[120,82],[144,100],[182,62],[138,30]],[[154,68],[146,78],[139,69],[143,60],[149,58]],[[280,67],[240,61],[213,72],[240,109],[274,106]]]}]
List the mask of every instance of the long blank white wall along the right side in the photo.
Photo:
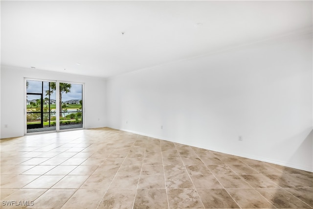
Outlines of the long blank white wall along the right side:
[{"label": "long blank white wall along the right side", "polygon": [[312,44],[302,34],[108,79],[108,126],[313,171]]}]

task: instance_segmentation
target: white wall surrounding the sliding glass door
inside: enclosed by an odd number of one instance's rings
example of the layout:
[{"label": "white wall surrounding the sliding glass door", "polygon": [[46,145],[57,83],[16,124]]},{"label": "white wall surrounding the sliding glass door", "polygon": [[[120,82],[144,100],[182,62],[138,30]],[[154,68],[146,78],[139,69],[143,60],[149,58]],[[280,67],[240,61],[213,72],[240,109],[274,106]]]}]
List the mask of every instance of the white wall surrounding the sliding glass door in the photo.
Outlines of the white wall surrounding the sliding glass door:
[{"label": "white wall surrounding the sliding glass door", "polygon": [[[25,77],[85,83],[85,128],[106,126],[104,79],[6,66],[1,66],[0,74],[1,139],[24,135]],[[7,128],[5,128],[6,124],[8,125]]]}]

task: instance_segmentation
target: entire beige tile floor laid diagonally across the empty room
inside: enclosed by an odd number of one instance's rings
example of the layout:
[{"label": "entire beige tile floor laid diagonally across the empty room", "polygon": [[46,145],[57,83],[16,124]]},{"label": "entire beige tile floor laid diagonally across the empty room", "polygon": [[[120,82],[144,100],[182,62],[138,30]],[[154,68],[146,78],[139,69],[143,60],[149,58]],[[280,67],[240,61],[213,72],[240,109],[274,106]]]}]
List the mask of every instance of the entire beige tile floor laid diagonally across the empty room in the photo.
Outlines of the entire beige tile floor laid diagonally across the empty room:
[{"label": "entire beige tile floor laid diagonally across the empty room", "polygon": [[313,208],[313,173],[109,128],[0,146],[3,209]]}]

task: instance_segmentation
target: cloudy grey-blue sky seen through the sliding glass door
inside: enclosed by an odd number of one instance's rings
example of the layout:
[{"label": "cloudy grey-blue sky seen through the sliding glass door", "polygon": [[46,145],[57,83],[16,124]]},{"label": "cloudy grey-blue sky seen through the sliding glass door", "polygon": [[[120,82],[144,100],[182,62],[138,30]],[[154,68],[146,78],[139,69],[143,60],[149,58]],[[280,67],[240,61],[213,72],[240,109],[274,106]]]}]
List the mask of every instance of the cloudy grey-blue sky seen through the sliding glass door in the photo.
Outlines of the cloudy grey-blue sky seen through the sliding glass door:
[{"label": "cloudy grey-blue sky seen through the sliding glass door", "polygon": [[[41,93],[42,92],[42,81],[27,80],[28,87],[27,93]],[[82,99],[82,84],[71,84],[69,93],[62,93],[62,101],[68,101],[71,99]],[[48,97],[45,95],[45,91],[49,89],[49,82],[44,81],[44,98]],[[27,95],[27,100],[38,99],[38,95]],[[50,95],[50,99],[56,99],[55,91]]]}]

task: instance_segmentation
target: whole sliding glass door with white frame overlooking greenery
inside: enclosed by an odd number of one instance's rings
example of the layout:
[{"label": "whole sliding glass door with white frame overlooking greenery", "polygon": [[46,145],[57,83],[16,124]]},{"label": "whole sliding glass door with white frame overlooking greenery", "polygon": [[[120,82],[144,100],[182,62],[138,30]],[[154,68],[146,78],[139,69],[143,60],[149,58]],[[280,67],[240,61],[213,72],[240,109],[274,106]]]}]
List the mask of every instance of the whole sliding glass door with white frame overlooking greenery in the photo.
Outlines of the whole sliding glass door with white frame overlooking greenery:
[{"label": "whole sliding glass door with white frame overlooking greenery", "polygon": [[83,128],[83,84],[26,79],[25,133]]}]

